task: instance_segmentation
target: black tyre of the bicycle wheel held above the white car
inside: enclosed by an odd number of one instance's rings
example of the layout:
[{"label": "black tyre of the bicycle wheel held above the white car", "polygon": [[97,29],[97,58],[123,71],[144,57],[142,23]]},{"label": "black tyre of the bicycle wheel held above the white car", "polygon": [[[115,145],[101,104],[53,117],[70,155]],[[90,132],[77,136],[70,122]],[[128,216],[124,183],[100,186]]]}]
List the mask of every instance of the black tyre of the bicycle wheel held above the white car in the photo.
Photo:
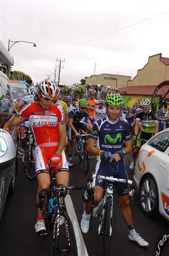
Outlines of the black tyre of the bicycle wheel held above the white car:
[{"label": "black tyre of the bicycle wheel held above the white car", "polygon": [[[161,122],[161,121],[164,121],[164,122],[169,121],[169,116],[166,116],[166,117],[163,117],[163,118],[159,118],[159,117],[158,117],[158,113],[157,113],[157,111],[156,111],[156,109],[155,109],[155,96],[156,96],[157,93],[159,93],[159,92],[161,92],[161,94],[162,94],[162,93],[165,94],[165,93],[166,93],[166,90],[169,89],[169,87],[165,87],[166,85],[169,86],[169,81],[163,81],[162,83],[160,83],[160,84],[156,87],[154,93],[152,94],[152,101],[151,101],[152,113],[153,113],[153,115],[155,116],[155,119],[157,119],[159,122]],[[162,90],[162,87],[163,87],[163,90]],[[166,90],[164,90],[164,88],[165,88]],[[167,93],[167,95],[169,95],[169,93]],[[160,108],[162,108],[162,106],[163,106],[166,102],[168,102],[167,104],[169,104],[169,96],[168,96],[168,99],[167,99],[167,100],[161,101],[162,104],[161,104],[161,105],[159,104]]]}]

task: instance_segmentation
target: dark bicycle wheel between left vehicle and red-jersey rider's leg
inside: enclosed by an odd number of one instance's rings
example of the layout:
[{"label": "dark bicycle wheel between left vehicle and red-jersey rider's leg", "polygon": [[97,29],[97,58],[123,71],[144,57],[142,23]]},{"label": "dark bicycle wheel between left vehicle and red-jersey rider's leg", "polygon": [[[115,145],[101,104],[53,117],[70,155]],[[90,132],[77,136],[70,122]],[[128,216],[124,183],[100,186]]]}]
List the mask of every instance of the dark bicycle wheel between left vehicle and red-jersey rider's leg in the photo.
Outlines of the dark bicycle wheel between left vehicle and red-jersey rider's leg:
[{"label": "dark bicycle wheel between left vehicle and red-jersey rider's leg", "polygon": [[36,179],[34,156],[32,154],[32,149],[29,150],[29,148],[26,150],[25,157],[24,157],[24,169],[25,169],[26,177],[29,180]]}]

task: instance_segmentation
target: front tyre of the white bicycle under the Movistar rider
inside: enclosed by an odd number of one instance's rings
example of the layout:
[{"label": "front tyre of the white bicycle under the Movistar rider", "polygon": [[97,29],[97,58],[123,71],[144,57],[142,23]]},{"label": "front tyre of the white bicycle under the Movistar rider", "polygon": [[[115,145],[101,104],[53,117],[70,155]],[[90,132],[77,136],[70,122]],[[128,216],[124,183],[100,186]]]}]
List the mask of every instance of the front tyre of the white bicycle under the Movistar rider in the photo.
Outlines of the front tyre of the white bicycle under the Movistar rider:
[{"label": "front tyre of the white bicycle under the Movistar rider", "polygon": [[107,236],[108,236],[108,226],[109,226],[109,221],[110,221],[110,206],[111,206],[111,201],[110,198],[107,198],[106,202],[106,212],[104,213],[103,216],[103,224],[104,225],[104,231],[103,231],[103,237],[102,237],[102,248],[101,248],[101,254],[100,256],[107,255],[106,253],[106,241],[107,241]]}]

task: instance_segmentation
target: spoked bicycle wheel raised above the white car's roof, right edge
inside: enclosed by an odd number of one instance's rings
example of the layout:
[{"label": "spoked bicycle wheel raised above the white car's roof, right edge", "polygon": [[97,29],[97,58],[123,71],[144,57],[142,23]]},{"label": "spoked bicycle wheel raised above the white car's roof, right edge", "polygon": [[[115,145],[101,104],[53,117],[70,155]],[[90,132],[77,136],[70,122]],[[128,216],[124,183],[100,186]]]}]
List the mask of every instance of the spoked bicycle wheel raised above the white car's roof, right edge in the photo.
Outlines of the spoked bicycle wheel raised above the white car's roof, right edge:
[{"label": "spoked bicycle wheel raised above the white car's roof, right edge", "polygon": [[[157,102],[157,100],[155,99],[156,96],[160,96],[161,99],[159,100],[159,102]],[[163,81],[156,87],[154,93],[152,94],[152,103],[151,103],[152,113],[159,122],[169,121],[169,116],[159,118],[157,113],[158,109],[161,109],[163,107],[167,108],[168,106],[169,106],[169,81]]]}]

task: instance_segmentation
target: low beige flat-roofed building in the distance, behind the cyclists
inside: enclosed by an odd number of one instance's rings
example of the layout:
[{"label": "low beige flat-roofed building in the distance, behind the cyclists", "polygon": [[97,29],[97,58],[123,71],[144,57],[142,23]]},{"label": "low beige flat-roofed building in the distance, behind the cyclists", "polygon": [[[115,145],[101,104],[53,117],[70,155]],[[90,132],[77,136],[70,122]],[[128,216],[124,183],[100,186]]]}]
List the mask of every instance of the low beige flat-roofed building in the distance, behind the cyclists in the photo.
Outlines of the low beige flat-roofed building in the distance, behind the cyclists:
[{"label": "low beige flat-roofed building in the distance, behind the cyclists", "polygon": [[121,76],[113,74],[100,74],[95,76],[90,76],[86,78],[86,84],[92,85],[105,85],[109,86],[111,89],[126,87],[127,82],[131,80],[131,76]]}]

